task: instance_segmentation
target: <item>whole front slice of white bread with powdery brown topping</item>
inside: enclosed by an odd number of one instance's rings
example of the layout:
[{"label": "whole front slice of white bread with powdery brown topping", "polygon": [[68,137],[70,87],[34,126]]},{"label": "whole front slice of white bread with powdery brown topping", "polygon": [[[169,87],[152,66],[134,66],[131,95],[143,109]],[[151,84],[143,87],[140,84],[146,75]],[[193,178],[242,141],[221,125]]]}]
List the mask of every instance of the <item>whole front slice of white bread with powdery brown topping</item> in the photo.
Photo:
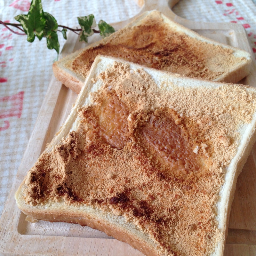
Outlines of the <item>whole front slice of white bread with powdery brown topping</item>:
[{"label": "whole front slice of white bread with powdery brown topping", "polygon": [[[102,95],[114,95],[109,108]],[[111,99],[122,108],[113,108]],[[119,126],[116,116],[128,124],[127,134],[125,125],[111,133]],[[99,127],[111,127],[112,137]],[[66,122],[15,199],[30,219],[88,225],[146,255],[223,255],[236,180],[255,127],[255,88],[98,56]],[[185,158],[175,143],[185,148]]]}]

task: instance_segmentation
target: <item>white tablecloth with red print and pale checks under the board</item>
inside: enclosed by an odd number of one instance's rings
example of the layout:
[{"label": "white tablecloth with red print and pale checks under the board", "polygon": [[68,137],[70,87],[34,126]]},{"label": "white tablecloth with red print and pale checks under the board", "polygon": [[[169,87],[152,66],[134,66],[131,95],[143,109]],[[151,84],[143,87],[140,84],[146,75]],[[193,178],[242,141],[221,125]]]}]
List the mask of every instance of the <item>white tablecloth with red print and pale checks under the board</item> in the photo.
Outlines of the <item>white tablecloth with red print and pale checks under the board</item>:
[{"label": "white tablecloth with red print and pale checks under the board", "polygon": [[[256,0],[254,0],[256,2]],[[108,23],[126,20],[140,11],[132,0],[42,0],[44,11],[59,24],[76,26],[77,16],[90,13]],[[28,0],[0,0],[0,20],[28,12]],[[256,7],[251,0],[181,0],[174,12],[189,20],[240,23],[256,54]],[[60,46],[65,43],[59,35]],[[17,173],[52,76],[57,54],[46,39],[30,44],[0,24],[0,216]]]}]

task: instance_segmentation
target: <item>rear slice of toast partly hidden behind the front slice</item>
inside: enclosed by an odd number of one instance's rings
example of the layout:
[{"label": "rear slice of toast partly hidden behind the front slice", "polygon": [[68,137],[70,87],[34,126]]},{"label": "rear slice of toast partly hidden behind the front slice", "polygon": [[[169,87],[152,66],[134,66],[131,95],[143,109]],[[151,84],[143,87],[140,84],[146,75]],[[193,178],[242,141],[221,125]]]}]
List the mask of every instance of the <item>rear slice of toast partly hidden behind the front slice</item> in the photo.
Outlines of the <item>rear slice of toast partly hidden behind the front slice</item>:
[{"label": "rear slice of toast partly hidden behind the front slice", "polygon": [[79,93],[97,55],[212,81],[237,83],[248,75],[248,52],[220,44],[168,19],[145,12],[110,36],[54,62],[55,77]]}]

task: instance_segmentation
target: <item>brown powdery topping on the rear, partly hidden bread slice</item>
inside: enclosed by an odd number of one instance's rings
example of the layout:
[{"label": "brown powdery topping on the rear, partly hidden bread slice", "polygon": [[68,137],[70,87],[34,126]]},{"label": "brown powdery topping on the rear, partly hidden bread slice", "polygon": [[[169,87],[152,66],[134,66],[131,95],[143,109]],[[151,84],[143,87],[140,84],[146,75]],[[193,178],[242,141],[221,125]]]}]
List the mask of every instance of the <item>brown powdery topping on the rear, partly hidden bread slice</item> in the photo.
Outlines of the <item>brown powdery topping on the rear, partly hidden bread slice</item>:
[{"label": "brown powdery topping on the rear, partly hidden bread slice", "polygon": [[242,61],[232,52],[175,32],[156,12],[146,17],[143,25],[121,29],[106,42],[81,52],[73,60],[71,69],[85,78],[95,57],[101,54],[150,68],[214,80]]}]

